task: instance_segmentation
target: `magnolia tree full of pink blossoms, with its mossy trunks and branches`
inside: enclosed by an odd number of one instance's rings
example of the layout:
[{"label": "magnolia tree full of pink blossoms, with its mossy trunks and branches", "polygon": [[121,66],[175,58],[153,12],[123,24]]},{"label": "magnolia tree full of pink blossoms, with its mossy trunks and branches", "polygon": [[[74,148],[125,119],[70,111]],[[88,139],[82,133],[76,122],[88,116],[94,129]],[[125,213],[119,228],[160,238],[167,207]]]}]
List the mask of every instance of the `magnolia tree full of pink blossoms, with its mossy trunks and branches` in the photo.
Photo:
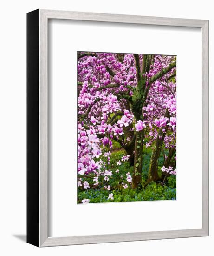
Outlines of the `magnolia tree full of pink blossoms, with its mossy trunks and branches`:
[{"label": "magnolia tree full of pink blossoms, with its mossy trunks and branches", "polygon": [[[114,141],[126,154],[112,167]],[[176,174],[175,146],[175,56],[78,52],[79,187],[90,187],[85,180],[88,176],[93,177],[93,187],[102,179],[108,181],[112,169],[129,161],[133,173],[127,174],[128,184],[123,182],[123,187],[137,188],[142,179],[143,148],[148,147],[152,154],[147,182],[163,181]]]}]

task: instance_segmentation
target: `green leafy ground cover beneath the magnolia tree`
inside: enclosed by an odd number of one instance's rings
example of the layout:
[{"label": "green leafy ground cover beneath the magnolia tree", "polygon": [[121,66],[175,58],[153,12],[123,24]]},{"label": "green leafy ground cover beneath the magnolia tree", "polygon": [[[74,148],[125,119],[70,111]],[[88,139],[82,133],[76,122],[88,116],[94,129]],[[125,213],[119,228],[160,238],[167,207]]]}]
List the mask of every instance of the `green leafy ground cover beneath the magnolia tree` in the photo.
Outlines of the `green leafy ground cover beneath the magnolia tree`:
[{"label": "green leafy ground cover beneath the magnolia tree", "polygon": [[[132,202],[132,201],[156,201],[156,200],[175,200],[176,199],[176,176],[170,175],[164,181],[151,182],[147,184],[149,161],[152,154],[152,148],[143,149],[143,166],[142,166],[142,182],[137,189],[132,189],[131,184],[126,181],[126,174],[129,172],[133,177],[133,166],[130,166],[130,162],[122,162],[121,158],[126,155],[126,152],[118,142],[113,141],[113,150],[110,155],[110,163],[107,164],[107,158],[101,155],[101,159],[106,162],[107,169],[112,171],[112,176],[109,176],[108,182],[101,182],[96,188],[93,188],[93,177],[88,175],[87,178],[83,178],[82,181],[87,181],[90,184],[90,189],[84,189],[84,187],[78,187],[78,203],[81,203],[83,199],[89,199],[90,203],[97,202]],[[121,165],[117,165],[118,161],[121,161]],[[138,159],[140,160],[140,159]],[[158,161],[158,173],[162,174],[161,167],[163,165],[164,157],[161,154]],[[138,163],[137,163],[138,164]],[[136,165],[137,165],[136,164]],[[116,170],[119,170],[116,173]],[[124,188],[123,185],[128,184],[128,188]],[[110,185],[110,190],[104,189],[104,186]],[[114,199],[108,199],[109,194],[113,193]]]}]

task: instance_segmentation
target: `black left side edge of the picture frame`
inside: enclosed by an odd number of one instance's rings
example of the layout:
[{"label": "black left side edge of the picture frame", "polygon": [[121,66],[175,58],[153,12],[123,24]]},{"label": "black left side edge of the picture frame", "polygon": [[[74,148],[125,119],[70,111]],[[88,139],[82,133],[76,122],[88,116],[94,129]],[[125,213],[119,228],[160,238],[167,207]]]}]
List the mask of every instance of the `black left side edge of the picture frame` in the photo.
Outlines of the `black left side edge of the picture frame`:
[{"label": "black left side edge of the picture frame", "polygon": [[39,246],[39,9],[27,13],[27,243]]}]

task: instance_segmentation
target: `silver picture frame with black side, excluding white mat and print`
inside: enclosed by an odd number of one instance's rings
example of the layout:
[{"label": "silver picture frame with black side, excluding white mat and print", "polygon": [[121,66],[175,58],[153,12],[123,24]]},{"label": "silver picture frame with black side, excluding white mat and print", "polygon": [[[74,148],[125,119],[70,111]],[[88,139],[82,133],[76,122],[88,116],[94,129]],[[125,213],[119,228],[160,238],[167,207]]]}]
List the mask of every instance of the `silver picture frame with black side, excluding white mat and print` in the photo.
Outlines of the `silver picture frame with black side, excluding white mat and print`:
[{"label": "silver picture frame with black side, excluding white mat and print", "polygon": [[[93,236],[48,236],[48,20],[120,22],[201,28],[202,228]],[[107,13],[27,13],[27,243],[38,247],[209,235],[209,21]]]}]

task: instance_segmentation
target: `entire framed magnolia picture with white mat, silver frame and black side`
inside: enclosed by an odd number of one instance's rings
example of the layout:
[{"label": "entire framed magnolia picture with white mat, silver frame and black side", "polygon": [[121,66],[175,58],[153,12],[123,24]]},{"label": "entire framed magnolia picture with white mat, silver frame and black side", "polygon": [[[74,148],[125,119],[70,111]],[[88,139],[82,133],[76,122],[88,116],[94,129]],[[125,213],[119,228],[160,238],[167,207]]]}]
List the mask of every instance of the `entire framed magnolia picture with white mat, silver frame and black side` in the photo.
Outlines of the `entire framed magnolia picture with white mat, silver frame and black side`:
[{"label": "entire framed magnolia picture with white mat, silver frame and black side", "polygon": [[27,243],[209,234],[209,22],[27,13]]}]

